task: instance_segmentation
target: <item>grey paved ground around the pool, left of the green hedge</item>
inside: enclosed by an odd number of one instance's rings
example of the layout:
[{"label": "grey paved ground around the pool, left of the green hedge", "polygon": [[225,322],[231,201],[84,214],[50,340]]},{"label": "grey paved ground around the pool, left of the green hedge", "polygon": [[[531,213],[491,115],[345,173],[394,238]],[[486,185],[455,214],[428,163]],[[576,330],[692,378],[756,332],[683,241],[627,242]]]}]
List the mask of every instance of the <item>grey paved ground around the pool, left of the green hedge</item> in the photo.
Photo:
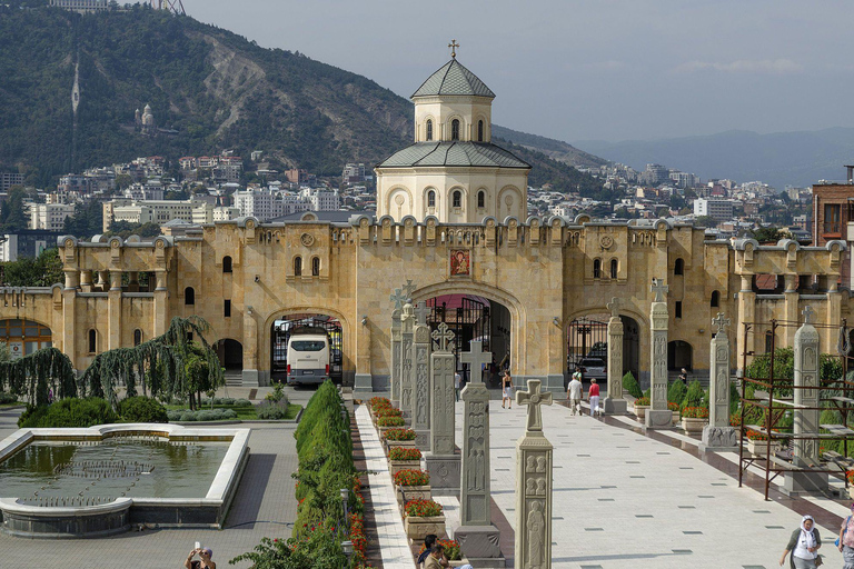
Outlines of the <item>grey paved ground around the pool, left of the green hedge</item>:
[{"label": "grey paved ground around the pool, left of the green hedge", "polygon": [[[245,397],[235,391],[229,389],[229,395]],[[0,439],[17,429],[19,415],[20,411],[0,410]],[[29,540],[0,533],[0,568],[172,569],[183,566],[196,541],[214,550],[218,567],[248,567],[247,562],[230,566],[228,560],[251,550],[265,536],[290,537],[290,525],[297,513],[290,475],[297,470],[297,452],[296,425],[246,426],[252,429],[250,458],[226,529],[132,531],[97,540]]]}]

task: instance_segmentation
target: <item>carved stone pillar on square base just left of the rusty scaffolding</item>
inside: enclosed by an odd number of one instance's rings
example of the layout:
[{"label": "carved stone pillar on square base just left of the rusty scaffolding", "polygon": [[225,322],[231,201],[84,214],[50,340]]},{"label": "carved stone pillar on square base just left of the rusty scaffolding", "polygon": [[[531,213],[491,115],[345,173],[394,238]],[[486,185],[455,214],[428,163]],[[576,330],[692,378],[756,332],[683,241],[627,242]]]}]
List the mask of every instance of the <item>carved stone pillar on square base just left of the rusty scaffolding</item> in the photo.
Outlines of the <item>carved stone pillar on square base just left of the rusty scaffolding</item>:
[{"label": "carved stone pillar on square base just left of the rusty scaffolding", "polygon": [[712,339],[708,365],[708,425],[703,428],[701,450],[737,450],[738,432],[729,426],[729,319],[718,312],[712,319],[717,333]]}]

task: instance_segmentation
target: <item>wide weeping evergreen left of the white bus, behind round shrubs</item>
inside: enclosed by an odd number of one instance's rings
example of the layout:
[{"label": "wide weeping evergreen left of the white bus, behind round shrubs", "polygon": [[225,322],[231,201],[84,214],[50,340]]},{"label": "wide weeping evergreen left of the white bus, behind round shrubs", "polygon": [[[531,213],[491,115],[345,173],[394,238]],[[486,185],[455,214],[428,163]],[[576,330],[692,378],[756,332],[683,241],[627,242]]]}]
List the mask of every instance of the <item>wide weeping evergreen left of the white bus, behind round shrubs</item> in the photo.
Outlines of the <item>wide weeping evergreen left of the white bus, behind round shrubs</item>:
[{"label": "wide weeping evergreen left of the white bus, behind round shrubs", "polygon": [[102,397],[113,407],[118,405],[117,389],[121,386],[127,397],[138,395],[138,387],[146,396],[185,396],[196,388],[186,366],[191,357],[202,358],[207,363],[205,380],[210,389],[224,386],[219,358],[205,339],[209,328],[200,317],[176,317],[162,336],[133,348],[99,353],[80,378],[81,395]]}]

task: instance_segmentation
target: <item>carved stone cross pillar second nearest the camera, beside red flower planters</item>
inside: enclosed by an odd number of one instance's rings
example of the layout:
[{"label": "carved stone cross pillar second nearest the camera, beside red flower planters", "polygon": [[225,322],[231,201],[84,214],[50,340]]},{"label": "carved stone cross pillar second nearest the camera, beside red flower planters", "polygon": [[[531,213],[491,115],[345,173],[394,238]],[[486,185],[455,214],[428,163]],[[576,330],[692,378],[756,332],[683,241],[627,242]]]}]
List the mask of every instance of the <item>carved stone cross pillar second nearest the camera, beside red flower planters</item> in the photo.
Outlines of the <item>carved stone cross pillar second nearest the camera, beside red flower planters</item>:
[{"label": "carved stone cross pillar second nearest the camera, beside red flower planters", "polygon": [[491,523],[489,490],[489,392],[480,369],[493,360],[483,342],[473,340],[461,360],[471,369],[471,381],[463,389],[463,473],[460,527],[454,531],[463,555],[475,567],[504,567],[500,531]]}]

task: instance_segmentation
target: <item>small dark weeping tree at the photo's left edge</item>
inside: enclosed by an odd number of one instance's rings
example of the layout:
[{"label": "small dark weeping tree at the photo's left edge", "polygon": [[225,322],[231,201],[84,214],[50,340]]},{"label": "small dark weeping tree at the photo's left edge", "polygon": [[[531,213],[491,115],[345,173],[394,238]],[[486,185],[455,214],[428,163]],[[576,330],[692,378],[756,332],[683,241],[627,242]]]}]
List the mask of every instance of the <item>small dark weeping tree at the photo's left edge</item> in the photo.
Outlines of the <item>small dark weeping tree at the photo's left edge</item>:
[{"label": "small dark weeping tree at the photo's left edge", "polygon": [[0,391],[24,397],[36,406],[48,405],[49,392],[77,397],[77,373],[71,360],[57,348],[42,348],[23,358],[0,362]]}]

